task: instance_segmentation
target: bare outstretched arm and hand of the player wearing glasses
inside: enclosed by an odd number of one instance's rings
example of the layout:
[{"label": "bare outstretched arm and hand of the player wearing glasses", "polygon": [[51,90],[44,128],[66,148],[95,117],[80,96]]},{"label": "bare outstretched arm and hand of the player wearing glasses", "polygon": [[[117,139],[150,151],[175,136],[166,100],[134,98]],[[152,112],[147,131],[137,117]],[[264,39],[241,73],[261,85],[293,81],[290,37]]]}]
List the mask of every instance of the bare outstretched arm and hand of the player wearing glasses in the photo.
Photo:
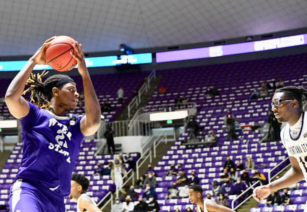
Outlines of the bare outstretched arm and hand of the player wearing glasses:
[{"label": "bare outstretched arm and hand of the player wearing glasses", "polygon": [[267,198],[272,191],[288,187],[304,179],[303,172],[297,162],[297,159],[294,157],[289,158],[292,165],[289,171],[287,171],[284,176],[270,184],[256,187],[253,191],[253,197],[255,200],[260,202],[262,199]]}]

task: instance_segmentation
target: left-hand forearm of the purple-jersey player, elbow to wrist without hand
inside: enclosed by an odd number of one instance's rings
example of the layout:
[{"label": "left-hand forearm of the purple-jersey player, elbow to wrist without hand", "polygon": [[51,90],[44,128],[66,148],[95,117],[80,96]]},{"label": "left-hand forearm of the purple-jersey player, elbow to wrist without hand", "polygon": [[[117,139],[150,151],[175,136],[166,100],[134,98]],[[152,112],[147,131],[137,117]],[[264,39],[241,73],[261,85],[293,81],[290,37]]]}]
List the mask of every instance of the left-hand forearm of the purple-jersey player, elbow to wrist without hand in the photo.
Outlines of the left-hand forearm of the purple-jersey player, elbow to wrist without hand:
[{"label": "left-hand forearm of the purple-jersey player, elbow to wrist without hand", "polygon": [[29,59],[21,71],[17,73],[16,77],[14,77],[9,87],[7,88],[5,95],[6,101],[20,99],[25,89],[25,83],[27,82],[27,79],[35,65],[35,61],[33,59]]}]

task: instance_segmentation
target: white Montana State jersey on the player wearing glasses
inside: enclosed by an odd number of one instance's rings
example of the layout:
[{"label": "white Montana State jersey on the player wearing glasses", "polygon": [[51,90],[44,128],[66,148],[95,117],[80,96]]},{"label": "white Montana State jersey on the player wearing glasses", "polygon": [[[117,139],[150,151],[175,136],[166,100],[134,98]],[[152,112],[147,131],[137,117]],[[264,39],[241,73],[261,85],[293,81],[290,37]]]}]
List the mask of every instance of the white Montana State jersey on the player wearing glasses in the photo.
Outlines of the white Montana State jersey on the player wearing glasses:
[{"label": "white Montana State jersey on the player wearing glasses", "polygon": [[[286,126],[280,132],[282,143],[288,155],[297,159],[299,166],[307,182],[307,114],[304,112],[300,118],[301,130],[295,135],[290,134],[290,126]],[[299,120],[299,121],[300,121]]]}]

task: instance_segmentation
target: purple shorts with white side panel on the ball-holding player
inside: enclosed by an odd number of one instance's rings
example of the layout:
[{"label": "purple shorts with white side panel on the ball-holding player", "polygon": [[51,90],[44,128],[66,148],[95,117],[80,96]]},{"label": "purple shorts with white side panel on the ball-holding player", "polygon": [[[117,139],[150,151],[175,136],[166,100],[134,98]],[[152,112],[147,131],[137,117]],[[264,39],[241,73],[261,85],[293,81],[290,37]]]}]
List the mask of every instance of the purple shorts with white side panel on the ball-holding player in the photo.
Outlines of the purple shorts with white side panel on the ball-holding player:
[{"label": "purple shorts with white side panel on the ball-holding player", "polygon": [[11,212],[65,212],[64,198],[53,191],[17,180],[10,188]]}]

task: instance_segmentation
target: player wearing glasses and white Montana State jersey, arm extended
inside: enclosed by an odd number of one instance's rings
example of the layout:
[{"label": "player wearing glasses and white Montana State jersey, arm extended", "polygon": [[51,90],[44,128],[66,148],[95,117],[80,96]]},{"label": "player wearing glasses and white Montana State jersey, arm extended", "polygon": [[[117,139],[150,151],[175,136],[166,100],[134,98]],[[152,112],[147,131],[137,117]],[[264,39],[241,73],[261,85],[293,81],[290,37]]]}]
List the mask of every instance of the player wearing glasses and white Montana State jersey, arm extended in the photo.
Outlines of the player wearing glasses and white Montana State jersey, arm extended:
[{"label": "player wearing glasses and white Montana State jersey, arm extended", "polygon": [[[307,180],[307,113],[303,112],[302,97],[306,99],[307,88],[288,86],[278,89],[272,98],[272,111],[278,122],[286,122],[280,137],[285,146],[292,167],[284,176],[253,191],[253,197],[260,202],[276,191]],[[305,208],[304,212],[307,212]]]}]

